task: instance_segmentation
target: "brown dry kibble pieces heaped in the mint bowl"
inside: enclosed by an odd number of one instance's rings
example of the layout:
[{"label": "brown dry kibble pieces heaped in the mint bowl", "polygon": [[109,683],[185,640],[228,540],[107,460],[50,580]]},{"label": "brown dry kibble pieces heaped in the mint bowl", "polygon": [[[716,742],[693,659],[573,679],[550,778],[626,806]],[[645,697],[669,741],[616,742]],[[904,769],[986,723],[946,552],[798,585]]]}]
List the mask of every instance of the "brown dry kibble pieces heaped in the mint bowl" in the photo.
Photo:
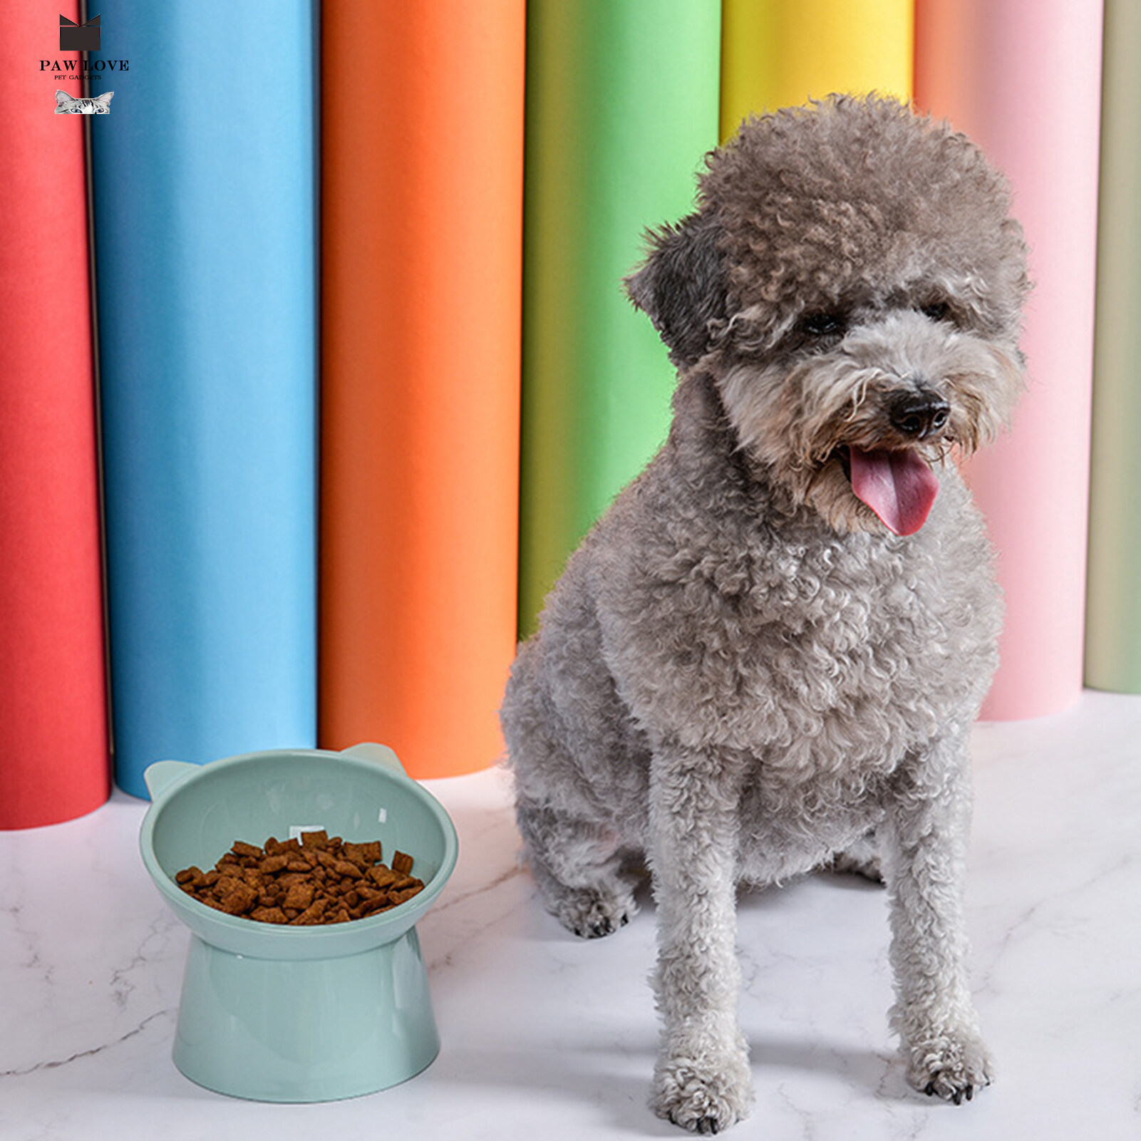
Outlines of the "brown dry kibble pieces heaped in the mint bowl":
[{"label": "brown dry kibble pieces heaped in the mint bowl", "polygon": [[412,857],[381,863],[380,841],[346,843],[324,832],[300,840],[270,836],[261,848],[238,840],[213,871],[184,868],[175,882],[188,896],[227,915],[261,923],[308,926],[348,923],[378,915],[423,889],[412,874]]}]

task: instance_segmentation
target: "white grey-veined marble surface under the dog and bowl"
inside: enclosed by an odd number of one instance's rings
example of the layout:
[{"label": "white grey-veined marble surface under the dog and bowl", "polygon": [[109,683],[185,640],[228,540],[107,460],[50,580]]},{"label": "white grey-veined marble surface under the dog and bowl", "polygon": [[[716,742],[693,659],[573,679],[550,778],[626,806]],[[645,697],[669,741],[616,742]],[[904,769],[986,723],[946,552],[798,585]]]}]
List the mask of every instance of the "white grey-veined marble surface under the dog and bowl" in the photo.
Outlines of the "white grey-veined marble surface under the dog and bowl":
[{"label": "white grey-veined marble surface under the dog and bowl", "polygon": [[[735,1136],[1141,1136],[1141,698],[1087,693],[981,725],[974,755],[972,977],[996,1084],[962,1107],[906,1087],[883,893],[808,877],[741,903],[758,1097]],[[461,841],[419,925],[443,1050],[402,1086],[326,1104],[237,1101],[175,1069],[188,933],[139,860],[145,804],[116,793],[83,819],[0,833],[0,1136],[683,1135],[646,1109],[652,904],[575,940],[518,866],[503,774],[430,787]]]}]

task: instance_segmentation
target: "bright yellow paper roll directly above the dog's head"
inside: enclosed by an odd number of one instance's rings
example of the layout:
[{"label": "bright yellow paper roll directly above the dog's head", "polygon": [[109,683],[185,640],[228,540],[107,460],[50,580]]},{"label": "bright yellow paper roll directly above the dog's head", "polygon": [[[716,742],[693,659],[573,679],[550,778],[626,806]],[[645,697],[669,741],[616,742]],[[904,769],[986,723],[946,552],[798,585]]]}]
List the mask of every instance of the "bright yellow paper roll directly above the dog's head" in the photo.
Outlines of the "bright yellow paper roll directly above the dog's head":
[{"label": "bright yellow paper roll directly above the dog's head", "polygon": [[912,97],[914,0],[725,0],[721,137],[834,91]]}]

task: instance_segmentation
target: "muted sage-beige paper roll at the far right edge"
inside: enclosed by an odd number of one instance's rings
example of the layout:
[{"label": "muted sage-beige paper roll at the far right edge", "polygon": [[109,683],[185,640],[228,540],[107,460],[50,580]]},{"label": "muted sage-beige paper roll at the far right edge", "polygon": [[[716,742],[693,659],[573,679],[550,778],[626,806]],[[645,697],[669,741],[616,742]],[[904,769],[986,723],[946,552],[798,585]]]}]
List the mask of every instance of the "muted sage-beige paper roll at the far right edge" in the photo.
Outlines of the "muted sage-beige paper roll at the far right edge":
[{"label": "muted sage-beige paper roll at the far right edge", "polygon": [[1141,5],[1107,0],[1085,681],[1141,693]]}]

